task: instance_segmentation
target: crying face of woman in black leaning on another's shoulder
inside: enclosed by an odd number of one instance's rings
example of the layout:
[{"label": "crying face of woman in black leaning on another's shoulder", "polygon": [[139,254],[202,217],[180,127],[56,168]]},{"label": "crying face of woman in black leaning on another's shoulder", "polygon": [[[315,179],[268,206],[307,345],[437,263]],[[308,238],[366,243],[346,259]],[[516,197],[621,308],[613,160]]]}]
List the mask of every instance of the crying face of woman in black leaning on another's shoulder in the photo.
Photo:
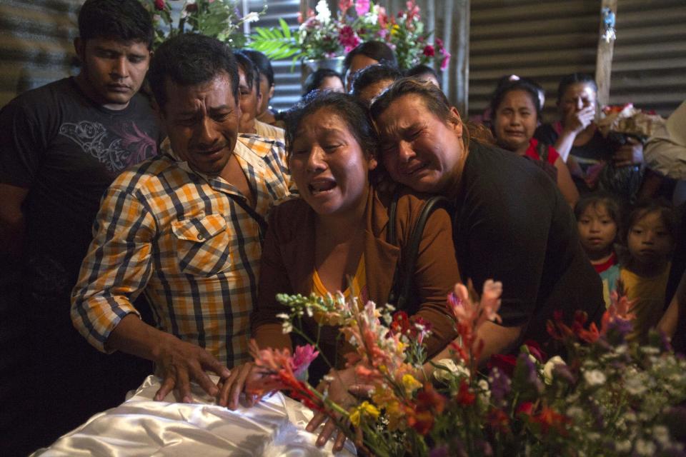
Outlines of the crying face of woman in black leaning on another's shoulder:
[{"label": "crying face of woman in black leaning on another's shoulder", "polygon": [[444,193],[462,157],[462,123],[439,119],[421,96],[399,97],[377,119],[384,166],[394,181],[419,192]]}]

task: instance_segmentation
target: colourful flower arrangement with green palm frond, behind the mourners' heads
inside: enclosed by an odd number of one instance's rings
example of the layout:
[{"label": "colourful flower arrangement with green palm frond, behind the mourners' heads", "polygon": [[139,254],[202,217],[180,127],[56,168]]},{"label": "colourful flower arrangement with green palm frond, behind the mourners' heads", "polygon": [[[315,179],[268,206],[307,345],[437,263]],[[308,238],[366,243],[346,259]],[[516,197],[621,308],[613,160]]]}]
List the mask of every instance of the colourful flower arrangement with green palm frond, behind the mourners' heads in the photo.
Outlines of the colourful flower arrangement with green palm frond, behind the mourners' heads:
[{"label": "colourful flower arrangement with green palm frond, behind the mourners' heads", "polygon": [[342,56],[363,41],[384,41],[396,52],[398,64],[409,69],[417,64],[437,61],[441,70],[447,68],[450,53],[443,41],[429,41],[432,31],[424,30],[419,6],[407,1],[407,9],[397,15],[387,15],[383,6],[369,0],[341,0],[337,17],[332,16],[327,1],[320,0],[307,18],[299,17],[300,26],[294,34],[285,21],[280,28],[256,27],[250,46],[272,59],[329,59]]}]

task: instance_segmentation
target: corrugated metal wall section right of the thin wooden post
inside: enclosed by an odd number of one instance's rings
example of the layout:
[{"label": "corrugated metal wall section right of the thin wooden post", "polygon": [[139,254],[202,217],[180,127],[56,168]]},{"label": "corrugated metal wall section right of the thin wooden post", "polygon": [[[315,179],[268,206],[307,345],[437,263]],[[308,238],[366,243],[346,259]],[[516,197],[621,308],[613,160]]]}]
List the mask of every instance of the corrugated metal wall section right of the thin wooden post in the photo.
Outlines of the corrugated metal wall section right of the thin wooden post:
[{"label": "corrugated metal wall section right of the thin wooden post", "polygon": [[668,116],[686,100],[686,1],[618,0],[610,103]]}]

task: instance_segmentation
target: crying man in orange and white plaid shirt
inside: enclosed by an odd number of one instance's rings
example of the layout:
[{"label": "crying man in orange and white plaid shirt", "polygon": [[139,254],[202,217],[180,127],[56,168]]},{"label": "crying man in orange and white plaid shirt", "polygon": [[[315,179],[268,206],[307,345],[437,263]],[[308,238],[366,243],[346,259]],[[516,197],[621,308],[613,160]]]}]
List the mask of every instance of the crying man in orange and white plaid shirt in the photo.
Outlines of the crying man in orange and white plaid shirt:
[{"label": "crying man in orange and white plaid shirt", "polygon": [[[174,391],[190,402],[195,381],[236,408],[232,386],[250,368],[264,220],[289,195],[284,146],[239,135],[237,63],[219,41],[170,39],[148,76],[171,150],[124,171],[106,191],[71,318],[100,351],[154,361],[163,380],[157,399]],[[141,292],[156,328],[131,304]]]}]

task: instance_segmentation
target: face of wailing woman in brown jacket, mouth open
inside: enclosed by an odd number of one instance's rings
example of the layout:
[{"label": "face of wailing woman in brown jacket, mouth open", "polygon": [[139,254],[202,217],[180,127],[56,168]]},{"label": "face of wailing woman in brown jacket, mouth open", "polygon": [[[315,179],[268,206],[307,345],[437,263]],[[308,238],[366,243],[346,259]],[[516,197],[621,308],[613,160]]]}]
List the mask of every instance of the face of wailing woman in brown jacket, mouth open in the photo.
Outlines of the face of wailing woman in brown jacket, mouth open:
[{"label": "face of wailing woman in brown jacket, mouth open", "polygon": [[302,198],[317,214],[354,212],[366,203],[367,174],[377,166],[335,109],[305,116],[293,141],[291,175]]}]

